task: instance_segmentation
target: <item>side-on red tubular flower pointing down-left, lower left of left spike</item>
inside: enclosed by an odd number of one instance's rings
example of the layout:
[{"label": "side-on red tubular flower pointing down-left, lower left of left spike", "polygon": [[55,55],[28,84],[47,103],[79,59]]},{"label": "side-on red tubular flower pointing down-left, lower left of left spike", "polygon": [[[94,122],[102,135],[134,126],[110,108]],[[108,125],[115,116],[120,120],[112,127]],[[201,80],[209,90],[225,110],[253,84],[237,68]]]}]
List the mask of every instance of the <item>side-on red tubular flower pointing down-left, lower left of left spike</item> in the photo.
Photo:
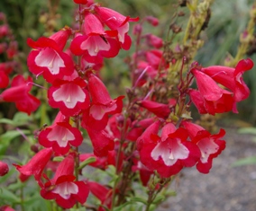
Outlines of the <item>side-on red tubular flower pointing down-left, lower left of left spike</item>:
[{"label": "side-on red tubular flower pointing down-left, lower left of left spike", "polygon": [[33,175],[34,179],[37,180],[41,185],[41,172],[44,170],[46,164],[50,161],[51,154],[51,148],[42,149],[40,152],[35,154],[32,159],[25,165],[21,166],[14,164],[14,166],[23,175]]}]

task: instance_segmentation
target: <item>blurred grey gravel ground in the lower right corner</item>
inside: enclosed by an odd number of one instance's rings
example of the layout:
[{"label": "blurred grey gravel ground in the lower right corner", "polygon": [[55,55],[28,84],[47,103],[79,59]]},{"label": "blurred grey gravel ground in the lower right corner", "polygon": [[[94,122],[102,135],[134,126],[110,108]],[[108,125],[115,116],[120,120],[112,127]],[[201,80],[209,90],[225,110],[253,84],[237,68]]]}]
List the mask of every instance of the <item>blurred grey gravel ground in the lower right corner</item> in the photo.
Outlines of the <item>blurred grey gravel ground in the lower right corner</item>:
[{"label": "blurred grey gravel ground in the lower right corner", "polygon": [[232,167],[238,159],[256,155],[251,135],[226,129],[226,149],[214,160],[209,174],[186,169],[177,196],[169,198],[158,211],[256,211],[256,164]]}]

